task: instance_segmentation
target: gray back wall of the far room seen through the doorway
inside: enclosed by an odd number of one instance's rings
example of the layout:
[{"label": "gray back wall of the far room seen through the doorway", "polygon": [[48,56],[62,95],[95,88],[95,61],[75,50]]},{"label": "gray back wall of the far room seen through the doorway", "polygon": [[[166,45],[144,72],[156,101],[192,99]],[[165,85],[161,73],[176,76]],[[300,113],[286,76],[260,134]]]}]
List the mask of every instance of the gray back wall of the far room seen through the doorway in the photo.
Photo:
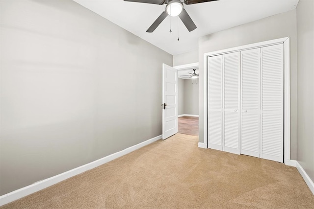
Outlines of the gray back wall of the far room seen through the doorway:
[{"label": "gray back wall of the far room seen through the doorway", "polygon": [[198,83],[192,79],[184,80],[184,114],[198,115]]}]

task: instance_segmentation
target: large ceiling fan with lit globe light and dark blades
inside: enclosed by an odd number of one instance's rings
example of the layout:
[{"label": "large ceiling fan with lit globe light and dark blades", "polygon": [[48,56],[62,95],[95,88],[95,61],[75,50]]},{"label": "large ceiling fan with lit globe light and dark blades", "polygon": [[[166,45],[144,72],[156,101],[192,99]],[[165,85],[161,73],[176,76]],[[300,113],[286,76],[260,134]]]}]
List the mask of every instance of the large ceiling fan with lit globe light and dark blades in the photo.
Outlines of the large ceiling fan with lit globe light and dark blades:
[{"label": "large ceiling fan with lit globe light and dark blades", "polygon": [[208,1],[215,0],[124,0],[124,1],[132,1],[132,2],[140,2],[140,3],[152,3],[163,5],[166,4],[166,10],[161,13],[161,15],[157,18],[157,20],[146,30],[148,33],[154,32],[154,30],[158,27],[158,25],[170,15],[172,17],[179,16],[185,27],[189,32],[196,29],[196,25],[187,14],[186,10],[183,8],[183,2],[186,5],[194,4],[194,3],[203,3]]}]

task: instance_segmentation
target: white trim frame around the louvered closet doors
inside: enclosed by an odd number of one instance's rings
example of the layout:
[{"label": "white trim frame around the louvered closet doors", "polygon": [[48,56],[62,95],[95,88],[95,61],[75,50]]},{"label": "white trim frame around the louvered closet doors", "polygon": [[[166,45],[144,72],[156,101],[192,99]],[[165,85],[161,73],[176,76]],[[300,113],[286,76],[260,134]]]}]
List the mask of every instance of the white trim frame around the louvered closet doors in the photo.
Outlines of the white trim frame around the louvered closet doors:
[{"label": "white trim frame around the louvered closet doors", "polygon": [[[290,37],[259,42],[255,44],[237,46],[204,53],[204,143],[199,147],[207,148],[207,58],[245,49],[271,46],[284,43],[284,162],[290,161]],[[200,144],[200,143],[199,143]]]}]

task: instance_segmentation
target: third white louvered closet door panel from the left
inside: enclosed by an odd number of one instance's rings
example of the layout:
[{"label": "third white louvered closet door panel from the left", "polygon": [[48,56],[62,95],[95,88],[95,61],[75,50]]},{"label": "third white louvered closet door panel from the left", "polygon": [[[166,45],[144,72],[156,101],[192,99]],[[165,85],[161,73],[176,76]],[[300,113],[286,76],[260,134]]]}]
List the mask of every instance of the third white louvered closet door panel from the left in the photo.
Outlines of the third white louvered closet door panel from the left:
[{"label": "third white louvered closet door panel from the left", "polygon": [[241,51],[241,150],[260,157],[260,48]]}]

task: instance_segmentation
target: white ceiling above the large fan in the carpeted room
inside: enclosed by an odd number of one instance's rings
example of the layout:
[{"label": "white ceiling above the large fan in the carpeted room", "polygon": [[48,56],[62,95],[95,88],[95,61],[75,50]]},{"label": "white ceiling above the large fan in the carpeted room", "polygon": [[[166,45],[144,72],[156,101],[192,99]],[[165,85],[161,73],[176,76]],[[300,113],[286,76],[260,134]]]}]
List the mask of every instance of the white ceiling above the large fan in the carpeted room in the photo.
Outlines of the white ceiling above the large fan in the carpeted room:
[{"label": "white ceiling above the large fan in the carpeted room", "polygon": [[[74,0],[151,44],[177,55],[198,49],[198,38],[236,25],[260,20],[296,7],[299,0],[217,0],[185,5],[197,28],[188,32],[178,17],[168,16],[153,33],[146,30],[165,5],[123,0]],[[172,24],[172,33],[170,30]],[[179,38],[178,41],[178,28]]]}]

